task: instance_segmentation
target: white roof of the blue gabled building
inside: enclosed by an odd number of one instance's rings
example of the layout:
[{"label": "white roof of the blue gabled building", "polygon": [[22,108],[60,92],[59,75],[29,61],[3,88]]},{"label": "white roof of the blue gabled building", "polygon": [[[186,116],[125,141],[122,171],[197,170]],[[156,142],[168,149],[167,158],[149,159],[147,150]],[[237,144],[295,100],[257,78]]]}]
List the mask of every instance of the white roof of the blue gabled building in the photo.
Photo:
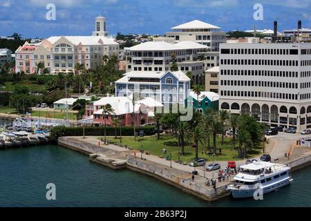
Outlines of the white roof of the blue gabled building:
[{"label": "white roof of the blue gabled building", "polygon": [[[181,70],[178,70],[178,71],[168,70],[167,72],[131,71],[129,73],[124,74],[124,77],[115,81],[115,83],[127,83],[127,82],[129,82],[129,78],[131,78],[131,77],[146,77],[146,78],[161,79],[167,73],[172,73],[178,79],[178,81],[190,81],[189,77],[187,77],[187,75],[185,75],[185,73],[183,73]],[[160,82],[159,82],[159,84],[160,84]]]}]

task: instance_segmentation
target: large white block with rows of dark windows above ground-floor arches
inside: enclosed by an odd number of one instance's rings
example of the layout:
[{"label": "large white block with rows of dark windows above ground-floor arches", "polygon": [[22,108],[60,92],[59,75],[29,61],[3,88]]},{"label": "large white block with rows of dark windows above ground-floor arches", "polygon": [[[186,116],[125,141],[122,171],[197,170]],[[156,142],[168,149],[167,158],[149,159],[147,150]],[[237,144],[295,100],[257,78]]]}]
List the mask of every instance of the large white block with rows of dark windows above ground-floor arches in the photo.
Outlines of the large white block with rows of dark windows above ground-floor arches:
[{"label": "large white block with rows of dark windows above ground-floor arches", "polygon": [[311,128],[311,44],[221,44],[220,108]]}]

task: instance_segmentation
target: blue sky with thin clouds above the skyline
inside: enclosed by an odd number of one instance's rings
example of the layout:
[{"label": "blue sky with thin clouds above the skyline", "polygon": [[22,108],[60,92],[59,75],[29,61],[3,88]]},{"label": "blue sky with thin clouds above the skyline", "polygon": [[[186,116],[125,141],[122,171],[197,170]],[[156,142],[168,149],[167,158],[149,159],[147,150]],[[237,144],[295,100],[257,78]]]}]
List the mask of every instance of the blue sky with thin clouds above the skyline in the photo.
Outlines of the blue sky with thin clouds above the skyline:
[{"label": "blue sky with thin clouds above the skyline", "polygon": [[[56,6],[56,20],[46,19],[46,5]],[[254,5],[263,6],[263,20],[254,20]],[[164,35],[171,27],[198,19],[225,31],[311,28],[311,0],[0,0],[0,36],[91,35],[94,18],[106,17],[107,30]]]}]

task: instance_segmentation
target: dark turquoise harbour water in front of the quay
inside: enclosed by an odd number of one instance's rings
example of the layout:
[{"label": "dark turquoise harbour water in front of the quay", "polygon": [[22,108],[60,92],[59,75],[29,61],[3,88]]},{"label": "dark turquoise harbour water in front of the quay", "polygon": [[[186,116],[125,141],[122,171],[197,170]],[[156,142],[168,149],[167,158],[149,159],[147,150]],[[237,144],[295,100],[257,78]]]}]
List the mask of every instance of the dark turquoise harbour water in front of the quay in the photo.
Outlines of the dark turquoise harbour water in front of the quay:
[{"label": "dark turquoise harbour water in front of the quay", "polygon": [[[113,171],[59,146],[0,151],[0,206],[311,206],[311,168],[261,202],[227,198],[207,203],[156,179]],[[55,201],[46,184],[56,185]]]}]

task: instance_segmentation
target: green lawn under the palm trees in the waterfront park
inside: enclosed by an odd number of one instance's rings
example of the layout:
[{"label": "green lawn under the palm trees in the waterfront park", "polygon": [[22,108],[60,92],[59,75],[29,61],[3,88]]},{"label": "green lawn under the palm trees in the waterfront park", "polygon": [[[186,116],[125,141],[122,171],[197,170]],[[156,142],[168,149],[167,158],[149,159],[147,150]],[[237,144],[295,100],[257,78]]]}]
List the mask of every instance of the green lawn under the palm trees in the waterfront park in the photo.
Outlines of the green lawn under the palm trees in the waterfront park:
[{"label": "green lawn under the palm trees in the waterfront park", "polygon": [[[101,137],[100,137],[101,138]],[[99,138],[99,139],[100,139]],[[120,138],[115,140],[115,137],[107,137],[108,140],[111,140],[114,144],[120,144]],[[229,160],[241,160],[238,159],[238,152],[236,150],[232,150],[231,138],[225,138],[225,144],[221,145],[221,137],[218,137],[216,140],[217,147],[217,155],[212,157],[211,155],[207,155],[206,153],[202,154],[202,149],[207,150],[206,146],[199,145],[199,157],[204,158],[207,162],[213,161],[229,161]],[[166,148],[167,152],[171,153],[172,160],[178,160],[178,144],[177,139],[172,138],[169,135],[162,135],[161,139],[158,141],[156,136],[151,137],[137,137],[137,142],[134,141],[133,137],[122,137],[122,144],[133,147],[133,149],[139,151],[141,147],[144,148],[144,151],[149,149],[152,155],[166,157],[166,155],[162,155],[162,149]],[[211,142],[212,145],[212,142]],[[219,155],[219,149],[221,148],[222,155]],[[252,155],[249,157],[254,157],[261,153],[261,148],[258,148],[252,152]],[[205,152],[204,151],[204,152]],[[195,157],[195,148],[191,148],[189,146],[185,147],[185,155],[180,157],[180,160],[183,162],[191,162]]]}]

